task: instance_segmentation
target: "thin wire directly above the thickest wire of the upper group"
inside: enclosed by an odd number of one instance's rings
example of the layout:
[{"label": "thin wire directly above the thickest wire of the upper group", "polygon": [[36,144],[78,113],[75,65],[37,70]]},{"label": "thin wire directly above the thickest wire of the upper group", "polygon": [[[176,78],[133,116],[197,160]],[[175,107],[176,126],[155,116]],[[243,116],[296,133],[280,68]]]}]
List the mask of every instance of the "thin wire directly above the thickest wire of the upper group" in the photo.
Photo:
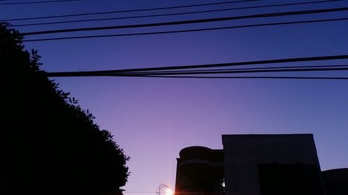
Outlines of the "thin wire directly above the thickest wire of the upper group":
[{"label": "thin wire directly above the thickest wire of the upper group", "polygon": [[93,21],[106,21],[106,20],[116,20],[116,19],[135,19],[135,18],[144,18],[144,17],[191,15],[191,14],[198,14],[198,13],[221,12],[221,11],[228,11],[228,10],[246,10],[246,9],[252,9],[252,8],[270,8],[270,7],[296,6],[296,5],[314,4],[314,3],[328,3],[328,2],[333,2],[333,1],[342,1],[342,0],[308,1],[308,2],[301,2],[301,3],[282,3],[282,4],[273,4],[273,5],[267,5],[267,6],[246,6],[246,7],[239,7],[239,8],[202,10],[202,11],[194,11],[194,12],[177,12],[177,13],[157,14],[157,15],[139,15],[139,16],[129,16],[129,17],[107,17],[107,18],[98,18],[98,19],[77,19],[77,20],[68,20],[68,21],[61,21],[61,22],[41,22],[41,23],[31,23],[31,24],[15,24],[12,26],[38,26],[38,25],[48,25],[48,24],[67,24],[67,23],[76,23],[76,22],[93,22]]}]

